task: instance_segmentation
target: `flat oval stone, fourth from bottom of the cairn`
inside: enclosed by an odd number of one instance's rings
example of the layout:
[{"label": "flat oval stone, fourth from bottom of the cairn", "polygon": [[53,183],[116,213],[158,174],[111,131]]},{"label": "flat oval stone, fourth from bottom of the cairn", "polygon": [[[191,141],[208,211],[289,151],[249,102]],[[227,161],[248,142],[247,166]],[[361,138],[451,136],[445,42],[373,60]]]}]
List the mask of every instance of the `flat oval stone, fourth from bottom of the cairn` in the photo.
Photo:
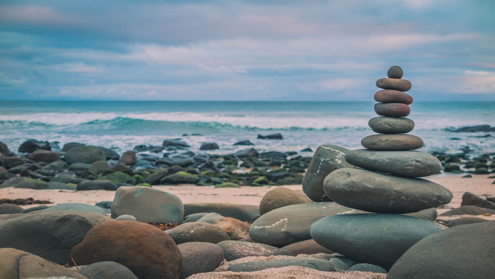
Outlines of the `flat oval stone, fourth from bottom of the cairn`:
[{"label": "flat oval stone, fourth from bottom of the cairn", "polygon": [[423,140],[414,135],[371,135],[361,145],[372,150],[413,150],[423,146]]}]

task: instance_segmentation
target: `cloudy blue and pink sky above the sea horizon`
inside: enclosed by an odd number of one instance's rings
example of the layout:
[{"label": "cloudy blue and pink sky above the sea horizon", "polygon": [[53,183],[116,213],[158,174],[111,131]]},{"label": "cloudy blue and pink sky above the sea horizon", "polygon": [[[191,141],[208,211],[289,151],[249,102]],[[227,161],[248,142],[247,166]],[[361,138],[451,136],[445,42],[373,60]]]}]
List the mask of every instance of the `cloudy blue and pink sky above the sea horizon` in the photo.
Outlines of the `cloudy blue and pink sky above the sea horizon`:
[{"label": "cloudy blue and pink sky above the sea horizon", "polygon": [[1,0],[0,100],[495,101],[494,0]]}]

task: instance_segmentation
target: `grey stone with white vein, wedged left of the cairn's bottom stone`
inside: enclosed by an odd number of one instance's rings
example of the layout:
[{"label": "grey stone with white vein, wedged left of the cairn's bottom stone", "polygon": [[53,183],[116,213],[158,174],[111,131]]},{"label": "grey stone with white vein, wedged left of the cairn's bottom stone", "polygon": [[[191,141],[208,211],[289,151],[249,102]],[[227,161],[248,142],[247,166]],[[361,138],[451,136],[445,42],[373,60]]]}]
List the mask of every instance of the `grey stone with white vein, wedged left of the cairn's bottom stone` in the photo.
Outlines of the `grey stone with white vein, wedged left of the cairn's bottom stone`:
[{"label": "grey stone with white vein, wedged left of the cairn's bottom stone", "polygon": [[361,213],[335,202],[297,204],[272,210],[251,224],[249,237],[259,243],[286,246],[311,238],[309,227],[319,219],[335,215]]}]

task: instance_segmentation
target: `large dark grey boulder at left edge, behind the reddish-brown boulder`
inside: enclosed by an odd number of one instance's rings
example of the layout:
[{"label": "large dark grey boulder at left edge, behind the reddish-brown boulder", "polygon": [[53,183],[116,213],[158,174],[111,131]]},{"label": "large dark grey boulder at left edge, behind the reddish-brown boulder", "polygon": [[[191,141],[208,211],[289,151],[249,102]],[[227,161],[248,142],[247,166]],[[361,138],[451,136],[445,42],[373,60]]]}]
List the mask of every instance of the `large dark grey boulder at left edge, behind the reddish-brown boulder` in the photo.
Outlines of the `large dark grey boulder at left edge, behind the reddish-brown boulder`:
[{"label": "large dark grey boulder at left edge, behind the reddish-brown boulder", "polygon": [[[0,248],[11,247],[59,265],[95,225],[111,221],[86,212],[41,212],[0,222]],[[1,277],[0,277],[1,278]]]}]

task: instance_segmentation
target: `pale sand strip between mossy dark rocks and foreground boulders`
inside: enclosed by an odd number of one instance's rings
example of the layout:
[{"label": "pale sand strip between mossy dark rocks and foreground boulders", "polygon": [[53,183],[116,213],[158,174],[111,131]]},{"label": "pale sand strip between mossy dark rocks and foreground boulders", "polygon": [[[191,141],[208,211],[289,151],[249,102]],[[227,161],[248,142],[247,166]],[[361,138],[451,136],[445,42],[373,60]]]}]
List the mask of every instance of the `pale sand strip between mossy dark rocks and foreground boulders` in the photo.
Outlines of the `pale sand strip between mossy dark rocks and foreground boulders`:
[{"label": "pale sand strip between mossy dark rocks and foreground boulders", "polygon": [[[461,178],[464,174],[437,174],[426,177],[426,179],[439,183],[452,191],[452,201],[438,208],[439,214],[442,214],[452,208],[458,208],[461,205],[462,195],[464,192],[471,192],[475,195],[485,197],[485,195],[495,196],[494,178],[488,178],[490,175],[473,175],[472,178]],[[153,186],[155,189],[166,191],[177,195],[183,203],[228,203],[228,204],[247,204],[259,205],[266,192],[276,187],[287,187],[293,190],[302,189],[301,185],[286,186],[262,186],[241,188],[214,188],[214,186],[195,186],[190,184],[182,185],[164,185]],[[34,190],[20,188],[3,188],[0,189],[0,198],[17,199],[17,198],[34,198],[36,200],[49,200],[53,202],[50,205],[60,203],[86,203],[96,204],[101,201],[112,201],[115,191],[90,190],[90,191],[72,191],[72,190]],[[24,205],[22,207],[35,207],[38,204]],[[455,218],[458,218],[456,216]],[[481,217],[481,216],[480,216]],[[495,215],[483,216],[482,218],[495,221]],[[452,217],[443,217],[442,220],[451,220]]]}]

